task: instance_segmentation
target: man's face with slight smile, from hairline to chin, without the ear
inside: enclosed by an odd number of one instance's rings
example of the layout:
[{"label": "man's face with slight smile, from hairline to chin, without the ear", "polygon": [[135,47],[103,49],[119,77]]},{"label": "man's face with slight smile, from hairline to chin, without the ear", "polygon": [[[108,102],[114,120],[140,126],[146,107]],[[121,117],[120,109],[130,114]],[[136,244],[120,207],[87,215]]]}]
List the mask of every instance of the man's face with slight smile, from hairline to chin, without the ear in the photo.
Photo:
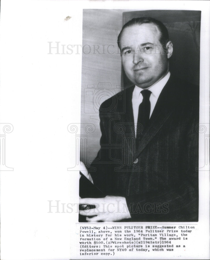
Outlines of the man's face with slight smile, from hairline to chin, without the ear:
[{"label": "man's face with slight smile, from hairline to chin, without the ear", "polygon": [[138,87],[147,88],[168,72],[168,57],[159,41],[155,24],[133,25],[124,29],[120,49],[127,77]]}]

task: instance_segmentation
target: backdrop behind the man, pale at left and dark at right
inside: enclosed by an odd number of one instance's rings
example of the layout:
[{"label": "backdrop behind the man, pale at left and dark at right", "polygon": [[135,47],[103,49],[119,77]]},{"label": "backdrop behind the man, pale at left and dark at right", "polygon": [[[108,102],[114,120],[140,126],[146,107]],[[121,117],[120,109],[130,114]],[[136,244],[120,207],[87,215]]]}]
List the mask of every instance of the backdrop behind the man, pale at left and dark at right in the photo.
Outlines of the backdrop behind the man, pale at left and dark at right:
[{"label": "backdrop behind the man, pale at left and dark at right", "polygon": [[140,16],[163,22],[174,46],[170,71],[199,84],[200,15],[200,11],[84,9],[80,160],[86,165],[100,148],[100,104],[132,84],[123,70],[121,73],[117,36],[122,24]]}]

